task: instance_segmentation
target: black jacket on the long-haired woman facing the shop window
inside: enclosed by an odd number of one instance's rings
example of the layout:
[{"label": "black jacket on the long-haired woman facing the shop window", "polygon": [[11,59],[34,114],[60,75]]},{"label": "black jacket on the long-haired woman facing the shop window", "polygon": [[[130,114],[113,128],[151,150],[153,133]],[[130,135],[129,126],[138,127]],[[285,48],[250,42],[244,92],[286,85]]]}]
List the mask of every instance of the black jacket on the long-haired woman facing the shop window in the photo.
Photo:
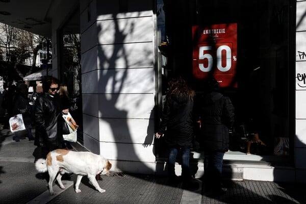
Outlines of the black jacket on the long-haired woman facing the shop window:
[{"label": "black jacket on the long-haired woman facing the shop window", "polygon": [[193,101],[179,101],[174,95],[167,95],[158,133],[165,134],[170,147],[192,147],[192,109]]}]

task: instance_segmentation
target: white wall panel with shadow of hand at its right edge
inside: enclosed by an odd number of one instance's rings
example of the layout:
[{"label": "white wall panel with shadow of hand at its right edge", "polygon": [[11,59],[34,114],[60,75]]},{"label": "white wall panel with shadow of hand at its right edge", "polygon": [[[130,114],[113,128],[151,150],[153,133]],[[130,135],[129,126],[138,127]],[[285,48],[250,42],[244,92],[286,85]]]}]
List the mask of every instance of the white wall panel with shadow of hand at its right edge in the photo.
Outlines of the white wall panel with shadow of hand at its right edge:
[{"label": "white wall panel with shadow of hand at its right edge", "polygon": [[147,145],[154,141],[153,119],[100,118],[99,126],[101,141]]}]

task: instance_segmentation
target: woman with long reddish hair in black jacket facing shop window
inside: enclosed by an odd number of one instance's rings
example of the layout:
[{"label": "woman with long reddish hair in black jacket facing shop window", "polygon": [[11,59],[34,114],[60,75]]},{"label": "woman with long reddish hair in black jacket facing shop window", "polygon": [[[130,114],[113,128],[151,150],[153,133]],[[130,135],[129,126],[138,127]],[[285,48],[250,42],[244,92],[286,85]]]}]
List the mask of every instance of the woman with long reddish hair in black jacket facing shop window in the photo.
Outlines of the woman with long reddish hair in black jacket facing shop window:
[{"label": "woman with long reddish hair in black jacket facing shop window", "polygon": [[183,185],[188,186],[191,181],[189,169],[189,152],[192,147],[194,91],[187,86],[182,78],[174,78],[169,81],[169,91],[163,109],[162,121],[156,138],[165,135],[168,144],[168,176],[170,183],[180,182],[175,175],[175,160],[178,151],[182,151],[182,177]]}]

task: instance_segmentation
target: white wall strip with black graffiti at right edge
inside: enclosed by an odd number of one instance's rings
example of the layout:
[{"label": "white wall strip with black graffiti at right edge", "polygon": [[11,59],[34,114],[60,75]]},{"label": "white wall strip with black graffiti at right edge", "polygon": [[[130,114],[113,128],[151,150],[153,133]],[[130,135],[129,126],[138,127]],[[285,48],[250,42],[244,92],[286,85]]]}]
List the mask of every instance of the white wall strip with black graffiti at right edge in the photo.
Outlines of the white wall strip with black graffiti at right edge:
[{"label": "white wall strip with black graffiti at right edge", "polygon": [[306,182],[306,2],[296,3],[296,181]]}]

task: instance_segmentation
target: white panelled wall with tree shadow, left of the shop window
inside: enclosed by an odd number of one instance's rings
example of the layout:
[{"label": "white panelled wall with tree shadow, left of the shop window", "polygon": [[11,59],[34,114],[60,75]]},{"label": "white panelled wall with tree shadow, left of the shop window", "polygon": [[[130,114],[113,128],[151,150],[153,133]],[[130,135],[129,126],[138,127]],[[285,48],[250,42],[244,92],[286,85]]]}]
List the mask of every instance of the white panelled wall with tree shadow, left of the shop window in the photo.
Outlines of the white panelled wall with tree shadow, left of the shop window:
[{"label": "white panelled wall with tree shadow, left of the shop window", "polygon": [[80,1],[80,15],[84,146],[112,170],[154,173],[152,2]]}]

